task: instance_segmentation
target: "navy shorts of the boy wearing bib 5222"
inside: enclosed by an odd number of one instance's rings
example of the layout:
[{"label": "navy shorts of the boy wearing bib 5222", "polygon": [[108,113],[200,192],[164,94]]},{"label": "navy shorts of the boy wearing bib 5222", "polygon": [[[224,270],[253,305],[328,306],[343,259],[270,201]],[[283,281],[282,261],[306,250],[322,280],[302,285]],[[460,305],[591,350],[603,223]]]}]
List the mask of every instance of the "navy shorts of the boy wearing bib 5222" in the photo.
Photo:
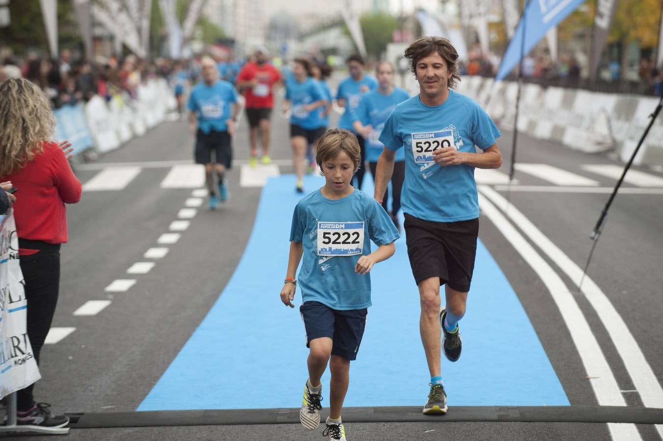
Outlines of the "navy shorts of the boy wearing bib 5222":
[{"label": "navy shorts of the boy wearing bib 5222", "polygon": [[329,337],[333,340],[331,355],[355,360],[361,338],[366,327],[368,309],[351,309],[339,311],[331,309],[320,302],[302,303],[299,312],[306,328],[306,347],[311,340]]}]

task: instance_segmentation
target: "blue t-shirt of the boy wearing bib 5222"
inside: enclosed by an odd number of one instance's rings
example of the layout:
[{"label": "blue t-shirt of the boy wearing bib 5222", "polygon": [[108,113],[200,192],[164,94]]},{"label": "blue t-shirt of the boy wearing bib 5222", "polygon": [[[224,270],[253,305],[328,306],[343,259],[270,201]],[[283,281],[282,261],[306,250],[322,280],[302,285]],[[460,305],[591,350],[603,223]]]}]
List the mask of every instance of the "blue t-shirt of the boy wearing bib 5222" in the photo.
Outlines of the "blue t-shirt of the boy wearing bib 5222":
[{"label": "blue t-shirt of the boy wearing bib 5222", "polygon": [[[358,243],[360,232],[363,242]],[[357,260],[362,254],[371,254],[371,240],[381,246],[398,237],[387,212],[357,189],[335,201],[324,197],[320,190],[303,197],[294,209],[290,229],[290,241],[303,242],[297,277],[302,300],[318,301],[337,310],[371,306],[371,277],[355,273]],[[318,254],[318,246],[322,255]],[[361,254],[343,255],[347,250],[359,253],[358,248]]]}]

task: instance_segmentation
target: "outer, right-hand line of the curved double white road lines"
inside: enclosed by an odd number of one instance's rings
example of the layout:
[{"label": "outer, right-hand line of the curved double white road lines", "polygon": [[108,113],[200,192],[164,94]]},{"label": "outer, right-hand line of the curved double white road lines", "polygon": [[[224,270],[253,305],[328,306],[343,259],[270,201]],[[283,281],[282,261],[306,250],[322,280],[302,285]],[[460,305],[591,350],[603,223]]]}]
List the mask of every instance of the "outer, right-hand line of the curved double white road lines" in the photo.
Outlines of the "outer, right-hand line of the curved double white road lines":
[{"label": "outer, right-hand line of the curved double white road lines", "polygon": [[[505,208],[509,204],[504,197],[490,187],[482,185],[480,191],[499,207]],[[536,228],[529,219],[520,213],[516,207],[509,205],[507,213],[509,213],[511,220],[518,225],[528,238],[577,285],[583,275],[583,270]],[[589,246],[590,243],[588,240],[587,250],[589,250]],[[613,344],[615,344],[615,348],[617,348],[617,352],[624,362],[624,366],[631,377],[631,381],[633,381],[633,385],[640,393],[642,404],[646,407],[663,408],[663,388],[658,382],[658,379],[656,379],[656,375],[654,375],[654,371],[652,371],[646,358],[644,358],[644,354],[642,354],[638,342],[633,337],[633,334],[631,334],[631,330],[629,330],[629,327],[621,315],[619,315],[615,306],[589,275],[585,275],[581,291],[587,297],[587,301],[589,301],[594,311],[596,311]],[[658,430],[658,434],[663,438],[663,424],[658,424],[656,430]]]}]

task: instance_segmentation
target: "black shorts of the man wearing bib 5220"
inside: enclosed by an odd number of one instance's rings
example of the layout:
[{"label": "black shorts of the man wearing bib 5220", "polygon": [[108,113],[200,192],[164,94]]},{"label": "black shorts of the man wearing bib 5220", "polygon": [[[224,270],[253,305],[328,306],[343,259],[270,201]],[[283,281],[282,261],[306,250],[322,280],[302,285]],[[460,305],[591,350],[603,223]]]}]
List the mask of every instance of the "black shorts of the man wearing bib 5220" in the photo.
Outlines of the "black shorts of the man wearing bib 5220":
[{"label": "black shorts of the man wearing bib 5220", "polygon": [[440,285],[446,283],[456,291],[469,291],[477,254],[479,218],[432,222],[405,213],[404,228],[417,285],[429,277],[440,277]]}]

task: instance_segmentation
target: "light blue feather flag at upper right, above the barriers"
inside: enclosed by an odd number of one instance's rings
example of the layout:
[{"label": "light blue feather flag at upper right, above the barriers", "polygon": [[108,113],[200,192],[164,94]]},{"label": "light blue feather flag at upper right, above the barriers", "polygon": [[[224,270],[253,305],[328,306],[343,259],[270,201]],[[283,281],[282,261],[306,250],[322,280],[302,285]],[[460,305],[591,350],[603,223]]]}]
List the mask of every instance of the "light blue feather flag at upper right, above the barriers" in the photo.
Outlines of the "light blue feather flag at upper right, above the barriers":
[{"label": "light blue feather flag at upper right, above the barriers", "polygon": [[[516,32],[507,46],[507,52],[502,58],[495,79],[499,81],[509,75],[520,62],[521,55],[528,54],[550,28],[566,19],[581,3],[585,3],[585,0],[529,0]],[[522,38],[524,38],[524,50],[521,47]]]}]

